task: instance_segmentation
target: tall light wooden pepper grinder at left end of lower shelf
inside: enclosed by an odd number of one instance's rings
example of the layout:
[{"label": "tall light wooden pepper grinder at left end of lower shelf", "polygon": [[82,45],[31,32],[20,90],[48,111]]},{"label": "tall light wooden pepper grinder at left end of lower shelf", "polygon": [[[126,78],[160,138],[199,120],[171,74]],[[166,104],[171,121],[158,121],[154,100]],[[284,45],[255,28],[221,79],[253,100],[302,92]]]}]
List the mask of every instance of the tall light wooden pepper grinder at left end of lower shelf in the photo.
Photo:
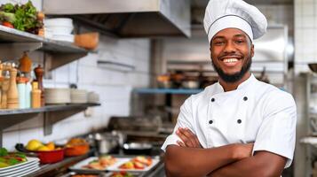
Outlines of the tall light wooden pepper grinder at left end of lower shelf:
[{"label": "tall light wooden pepper grinder at left end of lower shelf", "polygon": [[9,70],[10,72],[10,82],[9,82],[9,90],[7,93],[7,107],[8,109],[18,109],[19,108],[19,94],[17,88],[17,73],[18,70],[12,68]]}]

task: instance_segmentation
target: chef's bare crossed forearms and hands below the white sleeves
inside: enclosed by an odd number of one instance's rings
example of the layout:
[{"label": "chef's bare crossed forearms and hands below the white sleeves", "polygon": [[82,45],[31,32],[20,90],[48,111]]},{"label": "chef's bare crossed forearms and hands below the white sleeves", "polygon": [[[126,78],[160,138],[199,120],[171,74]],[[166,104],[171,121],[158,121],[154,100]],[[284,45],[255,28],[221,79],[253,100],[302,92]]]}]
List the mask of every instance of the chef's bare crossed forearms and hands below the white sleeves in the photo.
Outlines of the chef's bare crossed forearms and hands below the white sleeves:
[{"label": "chef's bare crossed forearms and hands below the white sleeves", "polygon": [[268,151],[251,156],[253,144],[229,144],[202,149],[197,137],[186,128],[178,128],[183,142],[166,149],[165,169],[168,176],[274,177],[280,176],[286,158]]}]

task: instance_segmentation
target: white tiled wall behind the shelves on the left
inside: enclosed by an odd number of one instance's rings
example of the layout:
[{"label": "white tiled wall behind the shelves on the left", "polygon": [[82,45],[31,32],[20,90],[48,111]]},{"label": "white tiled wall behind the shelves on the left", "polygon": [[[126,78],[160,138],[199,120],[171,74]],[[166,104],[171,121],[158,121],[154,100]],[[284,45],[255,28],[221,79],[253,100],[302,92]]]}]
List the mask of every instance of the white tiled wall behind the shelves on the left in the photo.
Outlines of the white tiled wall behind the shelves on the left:
[{"label": "white tiled wall behind the shelves on the left", "polygon": [[[0,0],[0,4],[7,2],[20,3],[25,0]],[[41,0],[33,2],[41,9]],[[47,136],[44,136],[42,116],[29,119],[4,131],[4,147],[13,150],[15,143],[27,143],[33,138],[49,142],[85,134],[107,126],[111,116],[129,115],[131,90],[149,85],[150,42],[147,39],[118,40],[101,36],[98,50],[98,53],[59,67],[52,72],[51,80],[44,80],[46,88],[67,88],[75,83],[79,89],[97,92],[102,105],[92,108],[92,116],[86,118],[80,112],[61,120],[53,126],[52,135]],[[135,70],[128,73],[108,70],[97,65],[99,59],[134,65]]]}]

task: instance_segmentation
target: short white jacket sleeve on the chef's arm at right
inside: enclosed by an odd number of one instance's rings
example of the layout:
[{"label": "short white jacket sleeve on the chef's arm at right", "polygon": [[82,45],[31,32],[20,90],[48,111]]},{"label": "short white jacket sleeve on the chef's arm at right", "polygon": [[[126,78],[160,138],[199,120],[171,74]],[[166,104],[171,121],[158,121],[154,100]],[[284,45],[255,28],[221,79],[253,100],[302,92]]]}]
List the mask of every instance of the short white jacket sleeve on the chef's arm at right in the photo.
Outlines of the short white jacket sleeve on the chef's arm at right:
[{"label": "short white jacket sleeve on the chef's arm at right", "polygon": [[296,104],[291,95],[281,90],[265,97],[264,119],[258,130],[253,153],[266,150],[287,158],[291,165],[296,141]]}]

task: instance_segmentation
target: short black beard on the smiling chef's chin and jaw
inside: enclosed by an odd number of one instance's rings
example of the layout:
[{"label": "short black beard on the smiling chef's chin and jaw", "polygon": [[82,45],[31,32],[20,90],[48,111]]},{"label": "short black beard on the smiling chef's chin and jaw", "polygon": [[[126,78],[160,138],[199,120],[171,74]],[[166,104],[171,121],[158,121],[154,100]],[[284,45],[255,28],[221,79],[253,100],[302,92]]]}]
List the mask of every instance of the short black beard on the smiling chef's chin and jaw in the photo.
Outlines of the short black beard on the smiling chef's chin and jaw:
[{"label": "short black beard on the smiling chef's chin and jaw", "polygon": [[212,61],[213,67],[215,68],[215,70],[218,73],[219,77],[223,81],[226,81],[226,82],[229,82],[229,83],[234,83],[236,81],[240,81],[242,79],[243,75],[250,70],[252,59],[251,59],[251,57],[249,57],[247,59],[248,59],[248,61],[247,61],[246,64],[242,65],[241,71],[237,72],[237,73],[234,73],[234,74],[224,73],[224,71],[220,67],[218,67],[217,65],[214,64],[212,59],[211,59],[211,61]]}]

